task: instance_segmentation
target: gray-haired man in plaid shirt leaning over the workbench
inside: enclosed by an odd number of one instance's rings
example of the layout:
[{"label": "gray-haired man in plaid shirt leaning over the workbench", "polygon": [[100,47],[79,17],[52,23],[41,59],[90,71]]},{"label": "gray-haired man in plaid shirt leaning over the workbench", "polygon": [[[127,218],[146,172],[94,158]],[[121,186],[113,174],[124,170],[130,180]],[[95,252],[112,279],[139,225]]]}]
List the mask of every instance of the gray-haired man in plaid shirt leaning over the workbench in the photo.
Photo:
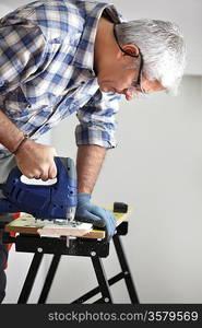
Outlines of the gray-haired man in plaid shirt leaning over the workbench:
[{"label": "gray-haired man in plaid shirt leaning over the workbench", "polygon": [[105,226],[109,239],[115,218],[91,194],[106,150],[116,147],[118,102],[175,92],[183,68],[183,38],[169,22],[127,23],[114,5],[75,0],[41,0],[9,13],[0,20],[0,183],[13,165],[28,178],[56,177],[56,150],[36,141],[76,113],[76,218]]}]

